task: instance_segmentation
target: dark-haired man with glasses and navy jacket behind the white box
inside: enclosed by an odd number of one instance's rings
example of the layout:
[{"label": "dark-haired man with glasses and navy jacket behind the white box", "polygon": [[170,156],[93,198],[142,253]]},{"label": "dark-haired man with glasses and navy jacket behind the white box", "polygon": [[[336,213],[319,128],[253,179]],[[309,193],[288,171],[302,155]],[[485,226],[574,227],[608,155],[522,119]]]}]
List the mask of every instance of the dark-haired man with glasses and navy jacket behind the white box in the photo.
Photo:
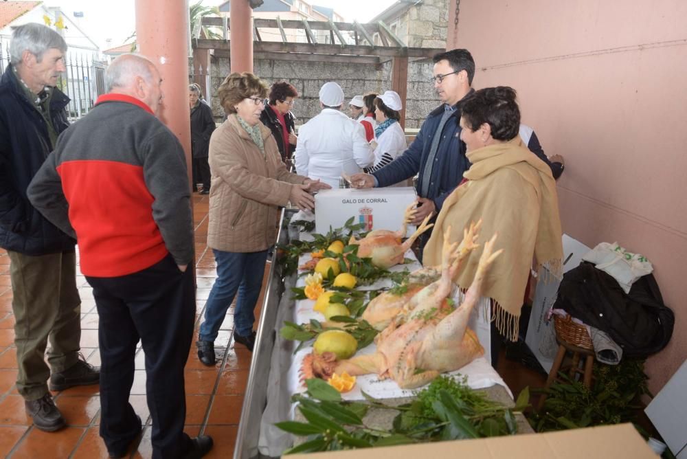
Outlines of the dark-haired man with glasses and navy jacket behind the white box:
[{"label": "dark-haired man with glasses and navy jacket behind the white box", "polygon": [[[354,188],[390,186],[418,175],[418,204],[412,223],[438,214],[444,199],[470,168],[460,136],[460,107],[475,76],[475,61],[467,49],[451,49],[433,57],[433,82],[442,104],[431,111],[414,142],[392,163],[372,174],[350,177]],[[431,232],[420,236],[420,249]],[[421,250],[420,250],[421,253]]]}]

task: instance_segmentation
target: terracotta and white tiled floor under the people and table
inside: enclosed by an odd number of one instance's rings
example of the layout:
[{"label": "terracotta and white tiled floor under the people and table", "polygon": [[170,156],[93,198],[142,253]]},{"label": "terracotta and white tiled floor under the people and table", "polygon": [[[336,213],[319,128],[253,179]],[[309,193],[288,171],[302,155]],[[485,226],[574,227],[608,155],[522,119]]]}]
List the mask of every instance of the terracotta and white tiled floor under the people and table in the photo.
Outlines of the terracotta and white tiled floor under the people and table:
[{"label": "terracotta and white tiled floor under the people and table", "polygon": [[[205,299],[216,277],[212,251],[207,249],[207,197],[194,194],[196,221],[196,331],[202,320]],[[106,458],[107,451],[98,436],[100,402],[98,385],[71,388],[56,392],[56,403],[67,419],[68,427],[54,433],[36,429],[24,411],[21,396],[14,388],[16,380],[16,350],[14,348],[14,315],[9,275],[10,260],[0,249],[0,457],[12,459]],[[265,268],[269,269],[269,265]],[[266,272],[267,274],[267,272]],[[266,276],[267,277],[267,276]],[[81,306],[82,352],[93,365],[100,364],[98,352],[98,313],[93,294],[83,276],[77,277]],[[262,296],[258,301],[262,304]],[[256,311],[257,315],[258,311]],[[220,335],[215,342],[218,361],[214,368],[203,366],[192,346],[185,368],[186,425],[191,436],[205,433],[214,439],[214,448],[207,458],[228,458],[234,453],[234,442],[240,417],[243,394],[251,364],[251,353],[243,346],[234,347],[231,339],[232,310],[229,310]],[[195,340],[195,339],[194,339]],[[545,377],[527,370],[519,363],[499,358],[499,373],[517,396],[525,386],[543,385]],[[144,356],[136,356],[136,375],[131,390],[131,403],[137,414],[146,420],[141,441],[132,458],[150,458],[150,416],[146,405],[146,373]]]}]

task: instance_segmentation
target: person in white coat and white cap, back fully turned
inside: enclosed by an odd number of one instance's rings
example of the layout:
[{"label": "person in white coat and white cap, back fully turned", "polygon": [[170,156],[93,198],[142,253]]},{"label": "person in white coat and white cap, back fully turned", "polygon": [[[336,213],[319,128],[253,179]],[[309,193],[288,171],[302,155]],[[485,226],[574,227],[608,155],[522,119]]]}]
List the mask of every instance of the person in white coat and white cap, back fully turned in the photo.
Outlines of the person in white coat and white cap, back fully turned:
[{"label": "person in white coat and white cap, back fully turned", "polygon": [[372,166],[374,153],[363,126],[341,112],[343,89],[337,83],[322,85],[319,104],[322,112],[298,130],[296,171],[339,188],[339,177]]}]

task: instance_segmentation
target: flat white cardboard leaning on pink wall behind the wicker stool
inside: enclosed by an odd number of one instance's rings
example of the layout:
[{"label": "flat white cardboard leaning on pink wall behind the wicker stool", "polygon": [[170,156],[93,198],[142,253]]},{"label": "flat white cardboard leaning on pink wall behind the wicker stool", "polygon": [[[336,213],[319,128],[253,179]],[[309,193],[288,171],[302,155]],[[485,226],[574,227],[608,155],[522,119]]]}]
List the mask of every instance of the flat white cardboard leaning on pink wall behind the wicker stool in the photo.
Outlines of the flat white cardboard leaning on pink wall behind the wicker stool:
[{"label": "flat white cardboard leaning on pink wall behind the wicker stool", "polygon": [[[563,273],[567,273],[570,269],[578,267],[582,261],[582,257],[589,250],[589,247],[580,241],[571,238],[567,234],[563,234]],[[548,282],[544,282],[543,279],[547,279]],[[546,322],[545,315],[556,301],[556,295],[558,294],[558,287],[561,284],[561,280],[554,278],[545,268],[539,271],[538,280],[537,289],[534,291],[534,300],[532,300],[532,313],[530,315],[530,322],[528,322],[527,326],[525,343],[532,351],[532,354],[534,354],[534,357],[537,357],[537,361],[539,361],[543,369],[546,372],[550,372],[554,364],[554,357],[558,346],[554,348],[553,355],[547,356],[541,352],[539,345],[545,335],[555,333],[553,331],[553,321]]]}]

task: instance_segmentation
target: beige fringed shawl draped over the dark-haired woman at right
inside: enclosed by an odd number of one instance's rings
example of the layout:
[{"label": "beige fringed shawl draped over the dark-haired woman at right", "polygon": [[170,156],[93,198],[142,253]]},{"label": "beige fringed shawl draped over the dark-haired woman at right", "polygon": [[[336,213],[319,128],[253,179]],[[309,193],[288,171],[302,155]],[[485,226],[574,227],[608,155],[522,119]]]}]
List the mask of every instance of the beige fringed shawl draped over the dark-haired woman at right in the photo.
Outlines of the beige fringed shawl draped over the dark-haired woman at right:
[{"label": "beige fringed shawl draped over the dark-haired woman at right", "polygon": [[[498,233],[495,260],[484,280],[482,295],[494,301],[494,320],[502,335],[517,340],[518,319],[532,266],[561,272],[563,247],[556,182],[550,168],[523,146],[520,137],[467,154],[472,166],[466,183],[444,201],[424,251],[425,266],[439,265],[444,232],[462,239],[471,221],[482,219],[479,243]],[[475,276],[481,249],[464,262],[454,281],[467,289]]]}]

